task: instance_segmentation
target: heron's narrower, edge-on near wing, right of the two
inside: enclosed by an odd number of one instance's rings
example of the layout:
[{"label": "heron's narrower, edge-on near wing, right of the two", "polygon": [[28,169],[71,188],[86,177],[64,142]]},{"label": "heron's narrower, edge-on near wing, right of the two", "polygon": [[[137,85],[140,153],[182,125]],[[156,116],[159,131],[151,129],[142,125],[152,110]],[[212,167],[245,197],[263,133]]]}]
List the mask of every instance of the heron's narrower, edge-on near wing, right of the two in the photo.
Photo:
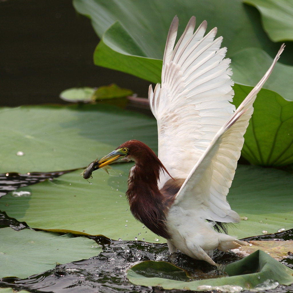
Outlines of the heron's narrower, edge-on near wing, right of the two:
[{"label": "heron's narrower, edge-on near wing, right of the two", "polygon": [[184,209],[197,209],[199,216],[204,219],[220,222],[240,220],[238,214],[231,210],[226,202],[226,195],[243,147],[243,135],[253,113],[253,102],[284,47],[283,44],[266,74],[217,132],[180,188],[175,205]]}]

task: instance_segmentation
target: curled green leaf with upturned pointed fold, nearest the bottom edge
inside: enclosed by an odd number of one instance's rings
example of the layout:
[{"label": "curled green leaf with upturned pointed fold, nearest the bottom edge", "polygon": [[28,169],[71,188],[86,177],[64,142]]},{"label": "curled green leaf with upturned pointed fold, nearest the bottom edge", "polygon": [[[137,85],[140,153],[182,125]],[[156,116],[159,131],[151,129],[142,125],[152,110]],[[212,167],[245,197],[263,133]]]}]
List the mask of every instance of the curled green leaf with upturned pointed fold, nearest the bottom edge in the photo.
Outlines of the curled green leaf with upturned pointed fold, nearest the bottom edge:
[{"label": "curled green leaf with upturned pointed fold, nearest the bottom edge", "polygon": [[[152,272],[152,276],[149,272]],[[246,258],[228,264],[224,271],[229,277],[207,280],[170,280],[169,272],[176,272],[182,278],[180,268],[165,262],[142,262],[127,272],[127,278],[135,285],[159,286],[163,289],[195,291],[220,290],[239,292],[241,290],[273,289],[277,285],[290,285],[293,282],[292,270],[263,251],[256,251]],[[156,274],[156,275],[154,275]],[[167,275],[168,277],[161,277]]]}]

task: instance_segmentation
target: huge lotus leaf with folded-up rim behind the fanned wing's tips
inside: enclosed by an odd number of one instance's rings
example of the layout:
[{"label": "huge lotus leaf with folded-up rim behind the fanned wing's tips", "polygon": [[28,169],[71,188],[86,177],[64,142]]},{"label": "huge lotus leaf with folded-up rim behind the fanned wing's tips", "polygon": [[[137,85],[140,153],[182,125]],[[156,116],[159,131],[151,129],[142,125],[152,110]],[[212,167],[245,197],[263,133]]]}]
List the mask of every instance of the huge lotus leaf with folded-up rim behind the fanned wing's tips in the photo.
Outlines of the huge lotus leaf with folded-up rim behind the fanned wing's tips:
[{"label": "huge lotus leaf with folded-up rim behind the fanned wing's tips", "polygon": [[[124,1],[123,6],[113,0],[74,0],[73,3],[79,13],[91,18],[93,28],[101,38],[94,53],[96,65],[127,72],[154,83],[160,82],[161,59],[175,15],[179,18],[178,36],[192,15],[197,17],[198,24],[206,19],[208,30],[216,26],[219,35],[224,36],[223,45],[228,48],[228,57],[249,47],[263,49],[270,56],[275,56],[279,49],[279,45],[266,37],[258,14],[238,0],[225,0],[225,4],[212,0],[163,0],[146,4],[138,0]],[[290,48],[291,45],[287,44],[282,62],[292,64]]]}]

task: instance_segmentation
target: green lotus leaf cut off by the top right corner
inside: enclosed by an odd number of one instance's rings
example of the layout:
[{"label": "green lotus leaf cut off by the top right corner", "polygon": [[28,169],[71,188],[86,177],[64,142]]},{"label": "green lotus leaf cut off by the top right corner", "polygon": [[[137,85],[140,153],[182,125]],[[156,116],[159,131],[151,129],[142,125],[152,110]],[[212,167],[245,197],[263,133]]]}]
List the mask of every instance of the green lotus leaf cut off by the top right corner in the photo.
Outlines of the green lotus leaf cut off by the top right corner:
[{"label": "green lotus leaf cut off by the top right corner", "polygon": [[263,27],[273,42],[293,40],[293,3],[290,0],[244,0],[255,6]]}]

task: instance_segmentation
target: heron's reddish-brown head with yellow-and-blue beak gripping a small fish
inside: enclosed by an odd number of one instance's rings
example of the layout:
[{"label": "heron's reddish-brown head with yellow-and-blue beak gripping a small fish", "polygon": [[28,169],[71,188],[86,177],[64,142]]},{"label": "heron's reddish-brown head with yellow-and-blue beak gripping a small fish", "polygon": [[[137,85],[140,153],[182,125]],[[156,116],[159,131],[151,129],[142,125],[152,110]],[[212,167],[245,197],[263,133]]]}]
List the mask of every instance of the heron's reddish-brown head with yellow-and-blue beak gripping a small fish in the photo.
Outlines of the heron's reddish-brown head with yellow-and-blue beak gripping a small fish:
[{"label": "heron's reddish-brown head with yellow-and-blue beak gripping a small fish", "polygon": [[159,159],[146,144],[133,139],[121,144],[117,149],[111,151],[103,158],[99,160],[96,159],[96,161],[90,163],[84,170],[83,176],[85,179],[88,179],[91,177],[93,171],[106,168],[108,165],[120,161],[134,161],[135,163],[140,163],[144,161],[159,161]]}]

